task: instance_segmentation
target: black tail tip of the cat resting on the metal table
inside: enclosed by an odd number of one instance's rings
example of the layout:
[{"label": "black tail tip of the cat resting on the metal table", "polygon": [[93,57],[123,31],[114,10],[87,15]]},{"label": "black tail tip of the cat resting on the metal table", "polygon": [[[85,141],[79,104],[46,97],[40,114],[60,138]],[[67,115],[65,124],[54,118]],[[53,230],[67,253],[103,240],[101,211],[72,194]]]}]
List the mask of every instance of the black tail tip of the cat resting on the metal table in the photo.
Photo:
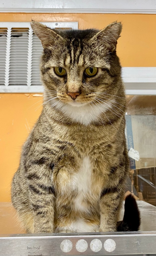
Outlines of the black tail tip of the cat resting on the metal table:
[{"label": "black tail tip of the cat resting on the metal table", "polygon": [[140,211],[136,199],[130,194],[125,199],[124,216],[117,222],[117,231],[138,231],[140,224]]}]

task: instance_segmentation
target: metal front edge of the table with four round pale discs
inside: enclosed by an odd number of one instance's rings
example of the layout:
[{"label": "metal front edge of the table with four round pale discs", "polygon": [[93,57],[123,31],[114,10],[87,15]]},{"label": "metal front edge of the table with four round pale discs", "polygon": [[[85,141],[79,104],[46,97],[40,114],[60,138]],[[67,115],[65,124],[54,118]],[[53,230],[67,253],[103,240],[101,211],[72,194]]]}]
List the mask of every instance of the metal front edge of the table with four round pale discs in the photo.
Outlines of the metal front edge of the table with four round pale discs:
[{"label": "metal front edge of the table with four round pale discs", "polygon": [[[91,250],[91,242],[102,243],[100,251]],[[80,241],[81,240],[81,241]],[[63,243],[63,246],[61,246]],[[79,246],[76,246],[79,243]],[[104,247],[105,246],[105,247]],[[94,247],[96,248],[96,246]],[[84,234],[5,235],[0,238],[0,255],[107,255],[156,252],[156,232],[115,232]]]}]

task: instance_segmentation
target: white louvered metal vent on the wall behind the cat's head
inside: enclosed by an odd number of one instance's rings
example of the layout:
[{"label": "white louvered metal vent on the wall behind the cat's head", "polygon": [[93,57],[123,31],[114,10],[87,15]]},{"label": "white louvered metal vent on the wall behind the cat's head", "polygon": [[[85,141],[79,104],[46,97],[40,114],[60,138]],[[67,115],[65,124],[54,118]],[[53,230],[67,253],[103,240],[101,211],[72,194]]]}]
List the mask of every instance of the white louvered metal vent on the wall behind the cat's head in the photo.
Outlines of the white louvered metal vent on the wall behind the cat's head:
[{"label": "white louvered metal vent on the wall behind the cat's head", "polygon": [[[77,22],[43,23],[78,28]],[[42,92],[39,58],[43,47],[26,22],[0,22],[0,92]]]}]

